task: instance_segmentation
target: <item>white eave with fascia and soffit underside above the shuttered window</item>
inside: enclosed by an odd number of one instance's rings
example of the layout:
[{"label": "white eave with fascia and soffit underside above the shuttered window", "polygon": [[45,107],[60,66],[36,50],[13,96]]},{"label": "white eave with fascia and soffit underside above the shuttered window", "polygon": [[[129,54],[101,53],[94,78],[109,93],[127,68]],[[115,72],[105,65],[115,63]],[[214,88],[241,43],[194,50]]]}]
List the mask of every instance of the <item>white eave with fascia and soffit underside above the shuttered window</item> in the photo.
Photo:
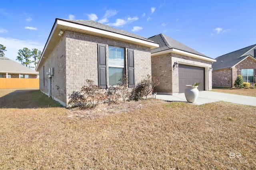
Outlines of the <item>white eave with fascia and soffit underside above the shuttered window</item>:
[{"label": "white eave with fascia and soffit underside above the shuttered window", "polygon": [[[111,38],[111,39],[117,39],[120,41],[140,44],[140,45],[144,45],[146,47],[150,47],[151,49],[159,47],[159,45],[154,43],[153,41],[152,42],[144,41],[142,39],[136,39],[136,38],[129,37],[126,35],[121,35],[118,33],[113,33],[113,32],[105,31],[102,29],[97,29],[94,27],[79,25],[77,23],[70,23],[67,21],[57,20],[57,24],[62,25],[65,29],[70,30],[70,31],[83,32],[83,33],[92,34],[92,35],[96,35],[96,36],[100,36],[100,37],[106,37],[106,38]],[[78,30],[76,30],[76,29],[78,29]]]}]

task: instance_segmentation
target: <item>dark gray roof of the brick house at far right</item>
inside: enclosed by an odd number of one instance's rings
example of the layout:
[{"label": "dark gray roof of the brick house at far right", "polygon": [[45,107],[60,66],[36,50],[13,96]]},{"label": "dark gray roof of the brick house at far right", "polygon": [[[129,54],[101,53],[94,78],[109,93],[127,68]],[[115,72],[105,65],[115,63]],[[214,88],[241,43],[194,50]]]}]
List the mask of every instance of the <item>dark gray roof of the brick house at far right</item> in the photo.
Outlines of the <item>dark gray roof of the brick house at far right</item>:
[{"label": "dark gray roof of the brick house at far right", "polygon": [[231,68],[232,66],[236,65],[237,63],[248,57],[248,55],[245,55],[245,53],[253,49],[255,46],[256,44],[250,45],[249,47],[245,47],[243,49],[236,50],[231,53],[217,57],[216,62],[212,63],[212,69],[220,70],[223,68]]}]

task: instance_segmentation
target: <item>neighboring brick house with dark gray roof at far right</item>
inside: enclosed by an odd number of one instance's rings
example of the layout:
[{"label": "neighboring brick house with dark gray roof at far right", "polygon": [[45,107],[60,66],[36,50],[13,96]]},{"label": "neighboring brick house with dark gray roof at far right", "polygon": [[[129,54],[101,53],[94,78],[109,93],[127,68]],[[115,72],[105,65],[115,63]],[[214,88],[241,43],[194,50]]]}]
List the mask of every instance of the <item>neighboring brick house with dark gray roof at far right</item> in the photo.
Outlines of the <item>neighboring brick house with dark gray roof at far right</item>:
[{"label": "neighboring brick house with dark gray roof at far right", "polygon": [[212,64],[212,86],[233,87],[238,75],[244,82],[256,82],[256,44],[216,58]]}]

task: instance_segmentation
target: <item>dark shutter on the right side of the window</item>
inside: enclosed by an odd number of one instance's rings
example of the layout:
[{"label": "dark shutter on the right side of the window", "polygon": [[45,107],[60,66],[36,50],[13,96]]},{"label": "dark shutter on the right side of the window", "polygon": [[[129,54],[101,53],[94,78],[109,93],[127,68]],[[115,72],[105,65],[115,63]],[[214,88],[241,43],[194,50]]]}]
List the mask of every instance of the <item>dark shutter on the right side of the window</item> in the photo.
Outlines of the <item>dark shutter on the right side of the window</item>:
[{"label": "dark shutter on the right side of the window", "polygon": [[134,50],[128,49],[127,50],[128,56],[128,87],[132,87],[135,84],[134,81]]}]

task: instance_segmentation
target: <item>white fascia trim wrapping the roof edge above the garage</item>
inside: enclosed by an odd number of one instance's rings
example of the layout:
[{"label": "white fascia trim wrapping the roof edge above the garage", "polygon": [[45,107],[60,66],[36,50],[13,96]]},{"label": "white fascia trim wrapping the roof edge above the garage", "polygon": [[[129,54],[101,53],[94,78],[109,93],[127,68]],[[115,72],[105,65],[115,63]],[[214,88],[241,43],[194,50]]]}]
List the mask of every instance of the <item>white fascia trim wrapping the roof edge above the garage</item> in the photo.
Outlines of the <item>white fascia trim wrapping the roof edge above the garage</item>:
[{"label": "white fascia trim wrapping the roof edge above the garage", "polygon": [[176,53],[176,54],[185,55],[188,57],[193,57],[196,59],[201,59],[201,60],[210,61],[210,62],[216,62],[216,60],[214,60],[214,59],[210,59],[208,57],[204,57],[204,56],[193,54],[193,53],[188,53],[186,51],[182,51],[182,50],[178,50],[178,49],[168,49],[168,50],[164,50],[164,51],[159,51],[156,53],[152,53],[151,56],[161,55],[161,54],[165,54],[165,53]]}]

